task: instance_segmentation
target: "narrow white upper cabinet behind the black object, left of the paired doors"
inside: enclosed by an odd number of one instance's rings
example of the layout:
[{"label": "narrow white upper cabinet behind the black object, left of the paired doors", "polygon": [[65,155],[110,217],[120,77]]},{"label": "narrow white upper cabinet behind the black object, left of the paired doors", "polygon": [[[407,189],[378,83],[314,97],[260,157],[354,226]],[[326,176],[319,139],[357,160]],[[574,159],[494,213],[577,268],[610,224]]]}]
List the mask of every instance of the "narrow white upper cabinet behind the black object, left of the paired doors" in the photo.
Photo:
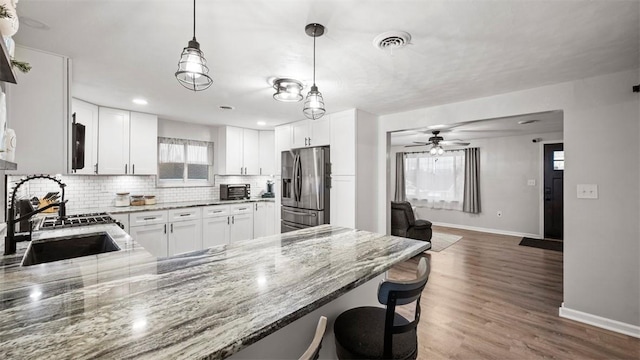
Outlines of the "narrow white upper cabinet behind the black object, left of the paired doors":
[{"label": "narrow white upper cabinet behind the black object, left of the paired doors", "polygon": [[[98,106],[71,99],[72,174],[98,173]],[[75,124],[75,125],[74,125]]]}]

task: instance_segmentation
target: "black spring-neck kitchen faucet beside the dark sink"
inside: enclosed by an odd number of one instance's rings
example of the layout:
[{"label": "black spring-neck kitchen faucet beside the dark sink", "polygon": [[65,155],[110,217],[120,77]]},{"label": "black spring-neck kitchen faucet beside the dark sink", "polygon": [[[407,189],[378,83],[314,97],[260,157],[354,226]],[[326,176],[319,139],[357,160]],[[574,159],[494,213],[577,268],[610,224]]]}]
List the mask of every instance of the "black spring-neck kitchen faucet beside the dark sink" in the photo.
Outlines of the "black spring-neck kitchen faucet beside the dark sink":
[{"label": "black spring-neck kitchen faucet beside the dark sink", "polygon": [[[18,188],[20,188],[20,186],[22,186],[22,184],[26,183],[27,181],[33,180],[33,179],[49,179],[52,181],[55,181],[59,186],[60,189],[62,190],[62,197],[60,198],[60,202],[57,203],[51,203],[48,204],[46,206],[43,206],[39,209],[36,209],[34,211],[31,211],[27,214],[21,214],[21,216],[19,218],[15,218],[15,204],[16,204],[16,193],[18,192]],[[49,175],[32,175],[32,176],[27,176],[25,179],[20,180],[20,182],[18,182],[18,184],[16,184],[16,186],[12,189],[12,194],[11,194],[11,204],[9,205],[9,208],[7,209],[7,236],[5,236],[4,238],[4,254],[5,255],[10,255],[10,254],[15,254],[16,253],[16,243],[18,241],[29,241],[31,240],[31,230],[29,230],[28,233],[22,233],[22,234],[16,234],[15,233],[15,226],[18,222],[23,221],[23,220],[27,220],[29,218],[31,218],[33,215],[39,214],[49,208],[52,208],[54,206],[58,207],[58,216],[60,218],[65,218],[67,216],[66,214],[66,206],[65,204],[67,203],[67,201],[64,200],[64,188],[67,185],[64,184],[63,182],[61,182],[60,180],[51,177]]]}]

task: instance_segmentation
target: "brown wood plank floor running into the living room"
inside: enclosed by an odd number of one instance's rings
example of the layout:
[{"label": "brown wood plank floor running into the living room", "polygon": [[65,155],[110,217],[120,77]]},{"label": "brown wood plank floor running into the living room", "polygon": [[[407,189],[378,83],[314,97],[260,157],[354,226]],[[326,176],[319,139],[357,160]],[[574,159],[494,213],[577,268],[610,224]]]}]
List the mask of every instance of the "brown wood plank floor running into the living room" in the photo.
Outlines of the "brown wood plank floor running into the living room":
[{"label": "brown wood plank floor running into the living room", "polygon": [[[640,359],[640,339],[560,318],[562,253],[519,237],[438,227],[463,238],[427,252],[418,359]],[[415,277],[417,258],[390,271]]]}]

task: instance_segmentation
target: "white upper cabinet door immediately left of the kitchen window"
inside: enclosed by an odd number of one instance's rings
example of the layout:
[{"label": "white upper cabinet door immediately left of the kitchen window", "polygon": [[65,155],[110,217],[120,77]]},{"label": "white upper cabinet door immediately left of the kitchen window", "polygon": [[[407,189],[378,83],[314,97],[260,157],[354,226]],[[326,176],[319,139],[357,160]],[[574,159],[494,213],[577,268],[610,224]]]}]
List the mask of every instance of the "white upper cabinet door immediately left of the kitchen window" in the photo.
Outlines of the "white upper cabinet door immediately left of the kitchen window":
[{"label": "white upper cabinet door immediately left of the kitchen window", "polygon": [[158,174],[158,117],[131,113],[129,174]]}]

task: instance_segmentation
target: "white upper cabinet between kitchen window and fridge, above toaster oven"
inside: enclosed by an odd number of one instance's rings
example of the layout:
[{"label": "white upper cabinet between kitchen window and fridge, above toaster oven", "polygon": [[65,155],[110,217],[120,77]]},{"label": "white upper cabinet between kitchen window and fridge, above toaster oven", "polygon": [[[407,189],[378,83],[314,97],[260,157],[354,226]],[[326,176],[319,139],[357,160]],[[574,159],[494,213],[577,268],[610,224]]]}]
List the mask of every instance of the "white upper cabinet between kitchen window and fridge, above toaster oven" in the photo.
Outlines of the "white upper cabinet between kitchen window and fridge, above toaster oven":
[{"label": "white upper cabinet between kitchen window and fridge, above toaster oven", "polygon": [[[263,134],[264,133],[264,134]],[[268,134],[270,133],[270,134]],[[273,173],[273,132],[222,126],[218,130],[218,174],[270,175]]]}]

